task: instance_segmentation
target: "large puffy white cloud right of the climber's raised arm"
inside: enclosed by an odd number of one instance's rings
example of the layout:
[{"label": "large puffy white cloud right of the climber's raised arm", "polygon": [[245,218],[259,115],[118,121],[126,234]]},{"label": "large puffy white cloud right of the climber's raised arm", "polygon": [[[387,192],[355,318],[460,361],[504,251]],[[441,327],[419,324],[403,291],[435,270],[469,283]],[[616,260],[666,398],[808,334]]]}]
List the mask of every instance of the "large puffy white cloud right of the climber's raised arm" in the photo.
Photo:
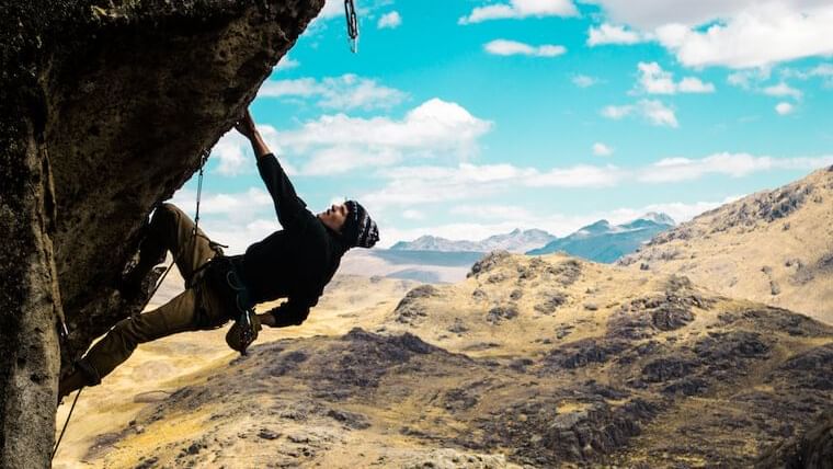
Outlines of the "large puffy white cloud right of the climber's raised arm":
[{"label": "large puffy white cloud right of the climber's raised arm", "polygon": [[477,152],[478,139],[492,125],[459,104],[432,99],[399,121],[324,115],[299,129],[282,131],[277,138],[293,155],[309,157],[303,173],[320,175],[389,165],[406,155],[467,159]]}]

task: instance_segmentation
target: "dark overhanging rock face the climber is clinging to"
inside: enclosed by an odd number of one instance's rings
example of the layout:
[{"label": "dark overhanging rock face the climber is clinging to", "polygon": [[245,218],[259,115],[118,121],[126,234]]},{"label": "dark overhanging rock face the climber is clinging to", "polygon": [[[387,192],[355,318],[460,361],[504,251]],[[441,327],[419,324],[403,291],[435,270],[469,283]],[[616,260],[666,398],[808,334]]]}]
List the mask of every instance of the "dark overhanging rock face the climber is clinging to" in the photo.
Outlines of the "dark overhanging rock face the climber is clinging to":
[{"label": "dark overhanging rock face the climber is clinging to", "polygon": [[[46,467],[64,364],[142,305],[114,285],[323,0],[0,2],[0,466]],[[45,436],[49,435],[49,436]]]}]

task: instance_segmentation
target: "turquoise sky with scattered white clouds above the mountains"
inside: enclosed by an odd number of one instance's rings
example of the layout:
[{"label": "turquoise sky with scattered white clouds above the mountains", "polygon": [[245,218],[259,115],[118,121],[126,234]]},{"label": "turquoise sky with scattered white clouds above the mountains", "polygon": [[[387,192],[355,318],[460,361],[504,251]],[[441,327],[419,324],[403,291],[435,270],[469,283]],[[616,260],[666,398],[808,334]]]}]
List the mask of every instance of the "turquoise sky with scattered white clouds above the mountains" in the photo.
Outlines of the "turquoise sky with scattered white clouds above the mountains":
[{"label": "turquoise sky with scattered white clouds above the mountains", "polygon": [[[356,7],[358,54],[328,0],[251,110],[309,208],[358,199],[383,247],[684,221],[833,164],[829,1]],[[279,228],[233,130],[204,184],[203,226],[232,252]]]}]

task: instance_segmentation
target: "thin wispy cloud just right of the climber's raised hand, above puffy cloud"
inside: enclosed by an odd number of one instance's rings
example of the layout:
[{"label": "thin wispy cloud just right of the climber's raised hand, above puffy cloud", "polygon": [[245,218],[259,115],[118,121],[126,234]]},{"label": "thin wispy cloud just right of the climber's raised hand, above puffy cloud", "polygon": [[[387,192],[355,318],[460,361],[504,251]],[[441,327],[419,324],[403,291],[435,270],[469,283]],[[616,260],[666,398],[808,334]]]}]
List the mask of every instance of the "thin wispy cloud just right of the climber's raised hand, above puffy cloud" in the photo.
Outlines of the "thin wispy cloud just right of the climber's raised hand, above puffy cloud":
[{"label": "thin wispy cloud just right of the climber's raised hand, above puffy cloud", "polygon": [[315,78],[267,81],[261,87],[258,98],[317,98],[317,104],[321,107],[373,110],[392,107],[408,95],[376,80],[347,73],[320,81]]}]

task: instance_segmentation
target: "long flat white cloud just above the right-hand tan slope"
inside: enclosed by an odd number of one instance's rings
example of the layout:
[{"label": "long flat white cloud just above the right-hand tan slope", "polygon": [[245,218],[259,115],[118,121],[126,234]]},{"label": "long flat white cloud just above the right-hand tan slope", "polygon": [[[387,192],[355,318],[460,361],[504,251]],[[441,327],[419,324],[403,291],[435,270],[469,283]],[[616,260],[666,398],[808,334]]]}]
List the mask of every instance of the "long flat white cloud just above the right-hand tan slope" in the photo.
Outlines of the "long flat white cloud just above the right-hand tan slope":
[{"label": "long flat white cloud just above the right-hand tan slope", "polygon": [[650,183],[691,181],[707,174],[742,178],[774,170],[814,170],[833,164],[833,156],[812,158],[755,157],[749,153],[715,153],[703,159],[666,158],[640,171],[638,180]]}]

